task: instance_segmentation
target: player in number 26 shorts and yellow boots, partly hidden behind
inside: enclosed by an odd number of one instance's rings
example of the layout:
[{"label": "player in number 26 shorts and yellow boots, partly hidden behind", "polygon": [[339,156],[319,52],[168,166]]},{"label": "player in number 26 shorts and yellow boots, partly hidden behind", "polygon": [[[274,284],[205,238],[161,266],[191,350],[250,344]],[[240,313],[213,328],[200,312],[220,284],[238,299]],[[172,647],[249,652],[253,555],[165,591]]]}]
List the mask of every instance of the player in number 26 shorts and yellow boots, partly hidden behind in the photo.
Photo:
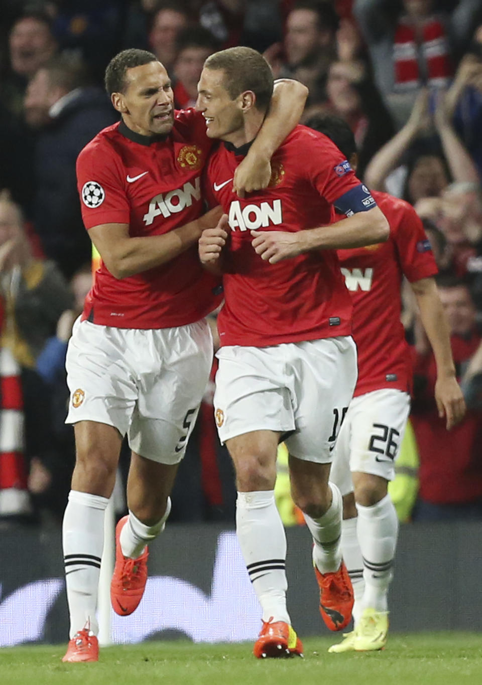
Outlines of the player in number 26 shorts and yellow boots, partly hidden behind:
[{"label": "player in number 26 shorts and yellow boots, partly hidden behind", "polygon": [[[310,123],[333,140],[356,169],[357,147],[348,124],[335,116]],[[451,429],[464,411],[448,325],[435,286],[437,266],[422,222],[409,203],[385,192],[373,196],[388,219],[389,239],[381,245],[338,250],[353,302],[358,381],[330,473],[344,496],[341,549],[355,595],[354,631],[330,647],[333,652],[382,649],[387,641],[387,594],[398,536],[387,486],[394,477],[394,460],[409,416],[412,376],[400,321],[404,276],[433,348],[437,384],[431,390],[438,416],[445,416],[446,428]]]}]

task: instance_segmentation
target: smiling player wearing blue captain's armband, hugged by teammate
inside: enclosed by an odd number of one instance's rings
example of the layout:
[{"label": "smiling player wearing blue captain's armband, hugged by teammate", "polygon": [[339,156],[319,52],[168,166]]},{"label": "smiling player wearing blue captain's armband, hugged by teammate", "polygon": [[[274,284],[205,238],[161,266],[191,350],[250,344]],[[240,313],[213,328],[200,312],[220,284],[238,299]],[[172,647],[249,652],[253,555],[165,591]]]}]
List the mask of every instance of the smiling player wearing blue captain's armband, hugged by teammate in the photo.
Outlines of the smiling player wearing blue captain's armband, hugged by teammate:
[{"label": "smiling player wearing blue captain's armband, hugged by teammate", "polygon": [[[313,535],[322,616],[331,630],[351,618],[352,589],[339,546],[341,495],[328,485],[328,473],[357,362],[350,296],[333,248],[379,242],[388,232],[343,155],[306,127],[296,127],[274,153],[268,188],[244,199],[232,195],[232,178],[256,142],[272,83],[259,53],[232,48],[206,60],[197,100],[208,136],[224,141],[208,163],[208,182],[226,214],[202,234],[200,256],[223,273],[215,419],[236,469],[237,535],[263,608],[257,657],[302,651],[287,612],[286,538],[274,500],[282,437],[293,499]],[[352,216],[328,225],[333,204]],[[313,250],[274,264],[269,236],[278,228],[290,236],[311,234],[324,249],[313,243]]]}]

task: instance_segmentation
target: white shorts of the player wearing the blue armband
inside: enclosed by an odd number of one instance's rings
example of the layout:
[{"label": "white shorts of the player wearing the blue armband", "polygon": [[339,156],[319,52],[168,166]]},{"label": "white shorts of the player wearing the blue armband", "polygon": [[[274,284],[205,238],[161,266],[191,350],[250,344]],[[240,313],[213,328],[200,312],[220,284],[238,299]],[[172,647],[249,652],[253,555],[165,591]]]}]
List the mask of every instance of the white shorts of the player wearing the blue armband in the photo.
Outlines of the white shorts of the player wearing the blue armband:
[{"label": "white shorts of the player wearing the blue armband", "polygon": [[291,434],[289,453],[329,463],[357,382],[350,336],[272,347],[221,347],[214,397],[222,443],[256,430]]}]

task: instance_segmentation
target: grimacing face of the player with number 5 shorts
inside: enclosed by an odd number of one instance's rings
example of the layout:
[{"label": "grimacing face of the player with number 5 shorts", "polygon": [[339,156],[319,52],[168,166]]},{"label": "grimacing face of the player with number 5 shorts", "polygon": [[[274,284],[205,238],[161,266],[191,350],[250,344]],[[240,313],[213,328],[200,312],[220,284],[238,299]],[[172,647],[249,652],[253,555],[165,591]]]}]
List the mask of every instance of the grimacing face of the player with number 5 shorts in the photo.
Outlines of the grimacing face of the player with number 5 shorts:
[{"label": "grimacing face of the player with number 5 shorts", "polygon": [[142,136],[169,134],[174,122],[173,92],[162,64],[133,66],[124,80],[123,92],[112,93],[112,104],[125,125]]}]

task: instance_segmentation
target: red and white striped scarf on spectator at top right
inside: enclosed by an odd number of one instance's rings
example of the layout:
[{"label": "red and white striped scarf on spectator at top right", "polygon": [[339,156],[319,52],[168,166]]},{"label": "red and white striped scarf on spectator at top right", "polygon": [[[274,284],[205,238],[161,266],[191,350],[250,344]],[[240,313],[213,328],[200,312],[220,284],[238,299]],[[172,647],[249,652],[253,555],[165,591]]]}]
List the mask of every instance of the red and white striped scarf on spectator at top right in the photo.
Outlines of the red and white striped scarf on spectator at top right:
[{"label": "red and white striped scarf on spectator at top right", "polygon": [[452,66],[442,22],[435,16],[426,18],[422,36],[417,38],[409,19],[400,19],[394,38],[394,62],[396,90],[447,86]]}]

